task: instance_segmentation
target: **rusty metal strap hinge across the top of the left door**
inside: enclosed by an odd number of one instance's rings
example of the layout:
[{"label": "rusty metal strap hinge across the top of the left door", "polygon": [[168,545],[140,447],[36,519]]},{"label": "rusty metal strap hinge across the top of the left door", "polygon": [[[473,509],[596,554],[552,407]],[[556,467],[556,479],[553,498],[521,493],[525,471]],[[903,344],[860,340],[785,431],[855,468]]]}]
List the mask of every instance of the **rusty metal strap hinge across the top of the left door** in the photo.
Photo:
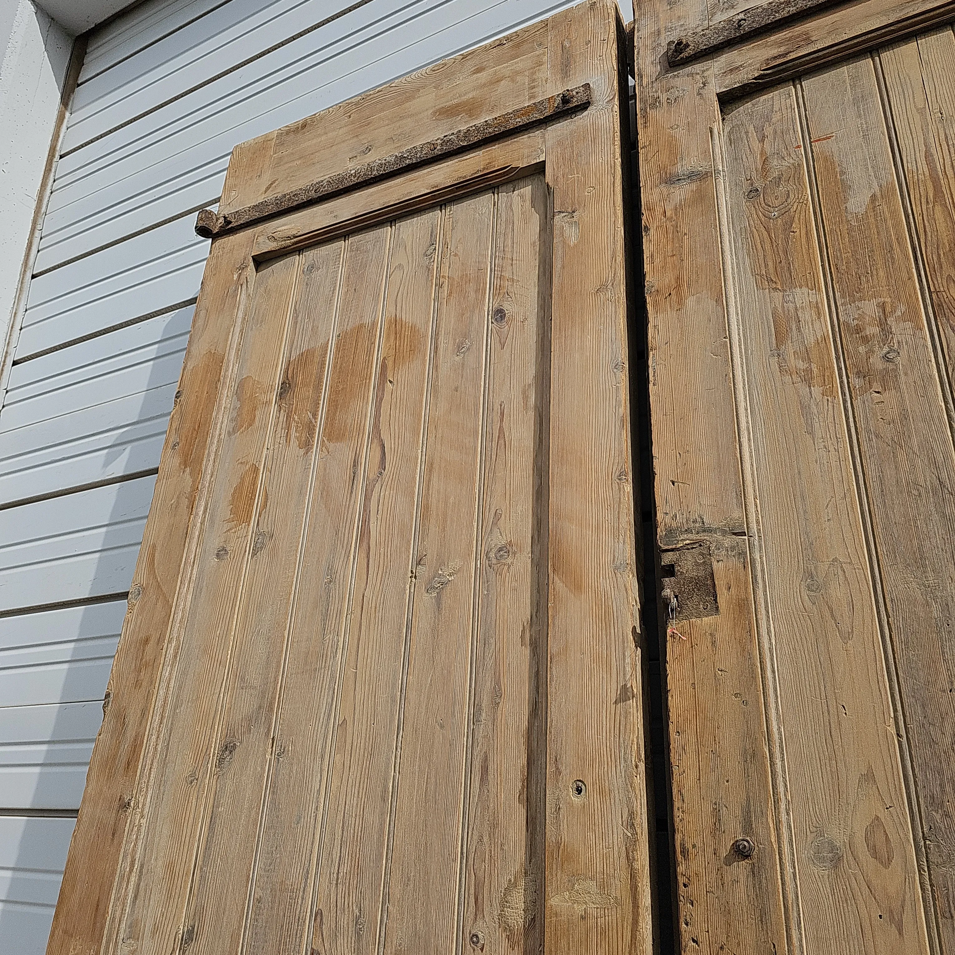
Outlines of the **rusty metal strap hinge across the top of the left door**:
[{"label": "rusty metal strap hinge across the top of the left door", "polygon": [[353,166],[327,179],[309,182],[308,185],[299,189],[271,196],[262,202],[254,202],[252,205],[246,205],[244,208],[227,212],[222,216],[211,209],[202,209],[196,219],[196,234],[204,239],[214,239],[234,229],[293,212],[313,202],[330,199],[332,196],[339,196],[358,186],[371,185],[372,182],[379,182],[398,173],[408,172],[426,163],[447,159],[466,149],[473,149],[475,146],[493,142],[495,139],[520,133],[550,119],[586,109],[589,105],[590,84],[584,83],[554,96],[548,96],[546,99],[529,103],[510,113],[484,119],[473,126],[422,142],[400,153],[393,153],[382,159],[373,159],[371,162]]}]

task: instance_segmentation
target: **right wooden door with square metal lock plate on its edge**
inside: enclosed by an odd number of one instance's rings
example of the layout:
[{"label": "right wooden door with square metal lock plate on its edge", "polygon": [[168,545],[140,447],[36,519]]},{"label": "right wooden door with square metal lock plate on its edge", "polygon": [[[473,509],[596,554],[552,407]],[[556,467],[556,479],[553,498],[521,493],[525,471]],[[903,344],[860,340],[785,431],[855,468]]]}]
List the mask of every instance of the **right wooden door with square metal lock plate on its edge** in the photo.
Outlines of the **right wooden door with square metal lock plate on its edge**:
[{"label": "right wooden door with square metal lock plate on its edge", "polygon": [[637,6],[685,952],[955,952],[953,18]]}]

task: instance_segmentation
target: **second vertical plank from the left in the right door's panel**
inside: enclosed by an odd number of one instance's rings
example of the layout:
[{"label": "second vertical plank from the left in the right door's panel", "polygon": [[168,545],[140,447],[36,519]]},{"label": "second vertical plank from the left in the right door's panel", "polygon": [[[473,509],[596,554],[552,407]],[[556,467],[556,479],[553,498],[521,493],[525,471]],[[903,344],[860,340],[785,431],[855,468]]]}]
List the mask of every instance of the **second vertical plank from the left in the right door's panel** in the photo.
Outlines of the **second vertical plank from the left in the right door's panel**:
[{"label": "second vertical plank from the left in the right door's panel", "polygon": [[[951,895],[950,734],[955,655],[955,453],[948,381],[927,326],[932,309],[913,260],[905,208],[871,59],[803,83],[819,204],[838,309],[864,490],[902,692],[902,745],[918,785],[929,877]],[[836,109],[839,104],[840,109]],[[874,241],[878,236],[878,241]],[[933,240],[924,237],[926,244]],[[946,794],[943,796],[942,794]],[[949,834],[949,835],[946,835]],[[941,890],[941,891],[939,891]],[[947,899],[946,899],[947,897]],[[931,908],[931,897],[925,896]],[[950,911],[950,909],[949,909]],[[935,922],[929,914],[929,924]],[[952,938],[950,920],[942,920]]]}]

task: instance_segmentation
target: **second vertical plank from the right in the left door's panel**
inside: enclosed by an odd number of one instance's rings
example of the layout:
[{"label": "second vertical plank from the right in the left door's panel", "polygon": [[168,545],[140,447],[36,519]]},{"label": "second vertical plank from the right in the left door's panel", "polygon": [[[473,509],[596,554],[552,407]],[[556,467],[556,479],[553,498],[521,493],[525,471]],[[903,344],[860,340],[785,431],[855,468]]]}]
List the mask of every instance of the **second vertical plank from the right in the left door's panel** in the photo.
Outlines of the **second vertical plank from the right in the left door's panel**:
[{"label": "second vertical plank from the right in the left door's panel", "polygon": [[447,206],[384,952],[453,951],[496,196]]}]

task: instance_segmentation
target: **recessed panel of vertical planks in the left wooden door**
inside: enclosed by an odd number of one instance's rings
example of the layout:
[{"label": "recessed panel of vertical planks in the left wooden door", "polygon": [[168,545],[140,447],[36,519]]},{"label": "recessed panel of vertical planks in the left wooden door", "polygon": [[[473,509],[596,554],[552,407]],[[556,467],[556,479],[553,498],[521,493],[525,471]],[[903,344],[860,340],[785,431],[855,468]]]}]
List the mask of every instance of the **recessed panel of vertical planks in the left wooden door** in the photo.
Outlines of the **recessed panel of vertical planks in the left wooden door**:
[{"label": "recessed panel of vertical planks in the left wooden door", "polygon": [[540,937],[549,230],[537,176],[258,268],[125,944]]}]

